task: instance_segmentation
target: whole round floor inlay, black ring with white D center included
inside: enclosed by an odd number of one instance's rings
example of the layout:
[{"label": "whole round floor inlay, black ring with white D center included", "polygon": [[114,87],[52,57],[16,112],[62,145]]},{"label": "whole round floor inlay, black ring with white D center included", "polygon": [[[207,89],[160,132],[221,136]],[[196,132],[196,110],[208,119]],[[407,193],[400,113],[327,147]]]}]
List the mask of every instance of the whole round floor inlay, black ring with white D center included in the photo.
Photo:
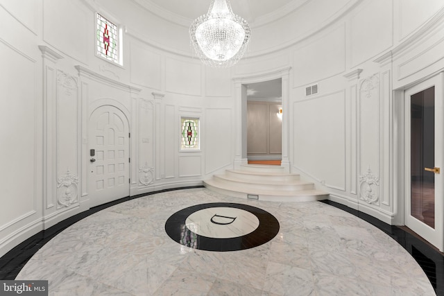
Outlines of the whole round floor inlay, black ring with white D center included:
[{"label": "whole round floor inlay, black ring with white D center included", "polygon": [[257,247],[276,236],[275,216],[247,204],[214,202],[182,209],[165,223],[174,241],[198,250],[238,251]]}]

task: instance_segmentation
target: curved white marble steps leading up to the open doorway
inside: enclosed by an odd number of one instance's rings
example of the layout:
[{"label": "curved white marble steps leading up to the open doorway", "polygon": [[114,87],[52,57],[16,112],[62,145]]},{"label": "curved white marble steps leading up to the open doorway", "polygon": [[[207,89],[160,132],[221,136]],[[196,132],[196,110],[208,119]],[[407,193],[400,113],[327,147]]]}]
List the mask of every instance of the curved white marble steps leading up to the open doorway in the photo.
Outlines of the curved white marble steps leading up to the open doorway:
[{"label": "curved white marble steps leading up to the open doorway", "polygon": [[238,170],[226,170],[204,181],[212,191],[237,198],[253,198],[278,202],[325,200],[328,193],[318,191],[299,175],[286,173],[282,166],[248,164]]}]

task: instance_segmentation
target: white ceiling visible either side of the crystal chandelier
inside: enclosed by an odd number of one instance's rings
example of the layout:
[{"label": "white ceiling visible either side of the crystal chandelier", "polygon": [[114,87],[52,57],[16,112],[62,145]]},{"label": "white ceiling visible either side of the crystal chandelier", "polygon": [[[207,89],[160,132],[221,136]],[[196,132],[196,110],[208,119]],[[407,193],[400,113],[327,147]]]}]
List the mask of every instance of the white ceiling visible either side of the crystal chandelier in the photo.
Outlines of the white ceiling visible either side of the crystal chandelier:
[{"label": "white ceiling visible either side of the crystal chandelier", "polygon": [[[210,0],[134,0],[160,17],[179,24],[191,23],[205,15]],[[255,21],[266,23],[287,15],[312,0],[232,0],[234,14],[243,17],[250,24]]]}]

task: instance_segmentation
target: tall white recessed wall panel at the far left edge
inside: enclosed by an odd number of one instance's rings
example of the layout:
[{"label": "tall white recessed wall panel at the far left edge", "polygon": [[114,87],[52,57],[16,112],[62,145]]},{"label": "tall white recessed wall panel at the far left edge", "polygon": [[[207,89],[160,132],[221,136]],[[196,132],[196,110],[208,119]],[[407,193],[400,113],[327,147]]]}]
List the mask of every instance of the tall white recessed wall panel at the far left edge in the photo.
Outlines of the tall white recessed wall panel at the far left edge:
[{"label": "tall white recessed wall panel at the far left edge", "polygon": [[[34,61],[0,41],[0,229],[35,211],[37,69]],[[24,87],[26,85],[26,87]],[[41,102],[40,102],[41,103]]]}]

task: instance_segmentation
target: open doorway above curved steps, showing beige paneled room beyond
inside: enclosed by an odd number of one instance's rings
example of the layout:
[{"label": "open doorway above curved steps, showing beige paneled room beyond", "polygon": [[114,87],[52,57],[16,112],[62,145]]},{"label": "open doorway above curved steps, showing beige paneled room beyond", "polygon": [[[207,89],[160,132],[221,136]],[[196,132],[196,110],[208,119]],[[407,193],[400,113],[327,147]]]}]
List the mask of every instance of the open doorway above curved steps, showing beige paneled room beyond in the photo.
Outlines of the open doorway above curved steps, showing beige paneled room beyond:
[{"label": "open doorway above curved steps, showing beige paneled room beyond", "polygon": [[282,161],[282,78],[244,85],[247,94],[248,164]]}]

